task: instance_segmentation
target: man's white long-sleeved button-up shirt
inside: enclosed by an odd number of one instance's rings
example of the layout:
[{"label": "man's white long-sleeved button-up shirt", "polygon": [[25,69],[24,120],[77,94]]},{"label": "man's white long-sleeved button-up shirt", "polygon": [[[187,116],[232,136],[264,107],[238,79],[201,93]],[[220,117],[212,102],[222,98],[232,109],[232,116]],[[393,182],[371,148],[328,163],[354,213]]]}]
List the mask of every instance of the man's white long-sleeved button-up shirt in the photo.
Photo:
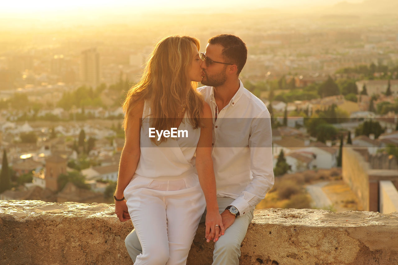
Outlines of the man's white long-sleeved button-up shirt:
[{"label": "man's white long-sleeved button-up shirt", "polygon": [[240,80],[239,83],[240,88],[221,110],[217,109],[213,87],[203,86],[198,91],[213,111],[212,158],[217,197],[234,199],[231,205],[243,215],[272,188],[274,175],[269,111]]}]

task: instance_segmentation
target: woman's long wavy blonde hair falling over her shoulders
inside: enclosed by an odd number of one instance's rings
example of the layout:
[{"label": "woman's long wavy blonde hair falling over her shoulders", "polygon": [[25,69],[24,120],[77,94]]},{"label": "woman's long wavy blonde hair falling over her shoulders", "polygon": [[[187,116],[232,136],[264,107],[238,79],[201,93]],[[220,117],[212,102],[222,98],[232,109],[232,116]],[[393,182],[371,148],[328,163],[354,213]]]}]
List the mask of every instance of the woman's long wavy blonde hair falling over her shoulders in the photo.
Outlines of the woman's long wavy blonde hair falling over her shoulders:
[{"label": "woman's long wavy blonde hair falling over her shoulders", "polygon": [[[189,36],[169,36],[156,44],[142,78],[130,88],[123,103],[125,130],[132,106],[141,99],[150,103],[151,118],[154,118],[150,123],[156,130],[170,130],[185,112],[193,128],[203,127],[203,97],[196,91],[197,82],[191,82],[188,77],[194,56],[192,43],[199,51],[199,41]],[[160,142],[155,138],[151,140],[159,144],[167,138],[162,135]]]}]

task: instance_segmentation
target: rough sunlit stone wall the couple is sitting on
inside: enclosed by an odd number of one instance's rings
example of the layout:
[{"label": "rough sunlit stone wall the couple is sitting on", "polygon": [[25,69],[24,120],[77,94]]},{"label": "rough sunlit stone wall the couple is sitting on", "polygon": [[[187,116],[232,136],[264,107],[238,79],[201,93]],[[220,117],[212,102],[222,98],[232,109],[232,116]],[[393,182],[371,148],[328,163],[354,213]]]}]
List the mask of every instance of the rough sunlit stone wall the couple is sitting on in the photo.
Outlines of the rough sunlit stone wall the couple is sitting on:
[{"label": "rough sunlit stone wall the couple is sitting on", "polygon": [[[0,201],[0,264],[132,264],[132,228],[114,205]],[[187,264],[211,264],[204,231]],[[398,264],[397,231],[398,212],[256,210],[240,264]]]}]

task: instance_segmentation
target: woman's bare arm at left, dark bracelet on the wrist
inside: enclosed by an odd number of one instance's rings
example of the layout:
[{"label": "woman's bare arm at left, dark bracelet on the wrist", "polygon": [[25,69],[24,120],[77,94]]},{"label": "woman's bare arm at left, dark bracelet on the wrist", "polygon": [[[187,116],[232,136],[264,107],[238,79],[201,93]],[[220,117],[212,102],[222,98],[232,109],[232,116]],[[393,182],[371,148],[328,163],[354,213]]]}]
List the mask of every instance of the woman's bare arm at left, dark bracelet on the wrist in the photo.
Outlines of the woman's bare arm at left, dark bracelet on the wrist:
[{"label": "woman's bare arm at left, dark bracelet on the wrist", "polygon": [[[117,175],[117,186],[115,197],[121,199],[123,192],[133,177],[140,159],[140,129],[144,101],[138,101],[129,112],[127,127],[125,130],[125,145],[120,157],[119,174]],[[115,201],[115,213],[121,222],[130,219],[126,201]]]}]

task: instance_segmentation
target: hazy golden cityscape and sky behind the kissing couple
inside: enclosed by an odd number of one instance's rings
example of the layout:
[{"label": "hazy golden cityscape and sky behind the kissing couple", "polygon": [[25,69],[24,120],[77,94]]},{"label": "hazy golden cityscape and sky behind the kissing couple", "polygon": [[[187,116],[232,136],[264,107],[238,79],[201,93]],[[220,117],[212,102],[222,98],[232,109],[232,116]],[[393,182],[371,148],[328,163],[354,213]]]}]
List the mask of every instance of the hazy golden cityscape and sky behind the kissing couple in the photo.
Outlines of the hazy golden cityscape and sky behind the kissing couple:
[{"label": "hazy golden cityscape and sky behind the kissing couple", "polygon": [[113,203],[121,103],[154,44],[231,33],[272,116],[258,208],[397,211],[398,3],[240,2],[2,4],[0,199]]}]

